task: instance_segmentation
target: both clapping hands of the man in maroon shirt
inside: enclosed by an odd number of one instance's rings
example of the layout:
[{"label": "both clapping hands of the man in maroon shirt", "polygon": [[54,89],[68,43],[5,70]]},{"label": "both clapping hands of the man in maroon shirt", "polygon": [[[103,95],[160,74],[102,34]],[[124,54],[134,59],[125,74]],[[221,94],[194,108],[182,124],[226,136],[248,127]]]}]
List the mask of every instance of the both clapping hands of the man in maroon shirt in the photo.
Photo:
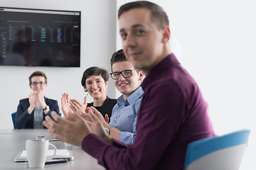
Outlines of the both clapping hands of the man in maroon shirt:
[{"label": "both clapping hands of the man in maroon shirt", "polygon": [[60,118],[56,113],[52,114],[53,121],[49,116],[46,116],[46,120],[43,121],[43,125],[48,128],[50,135],[55,139],[63,142],[68,142],[72,145],[80,146],[82,140],[89,135],[94,133],[102,137],[103,140],[112,144],[112,138],[105,132],[102,123],[93,113],[92,108],[87,108],[87,116],[90,121],[85,120],[77,113],[70,115],[70,120]]}]

